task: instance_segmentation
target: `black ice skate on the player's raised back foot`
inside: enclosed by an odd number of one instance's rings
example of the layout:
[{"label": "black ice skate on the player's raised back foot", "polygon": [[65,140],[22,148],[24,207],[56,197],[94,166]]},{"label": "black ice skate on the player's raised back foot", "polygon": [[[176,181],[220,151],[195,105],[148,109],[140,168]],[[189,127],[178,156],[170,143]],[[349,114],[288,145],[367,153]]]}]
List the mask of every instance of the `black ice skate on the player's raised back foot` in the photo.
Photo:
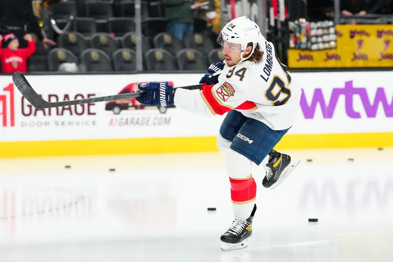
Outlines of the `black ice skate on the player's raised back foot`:
[{"label": "black ice skate on the player's raised back foot", "polygon": [[264,167],[266,175],[262,180],[262,185],[270,189],[275,188],[298,164],[298,159],[291,159],[289,155],[281,154],[272,149],[269,153],[269,162]]}]

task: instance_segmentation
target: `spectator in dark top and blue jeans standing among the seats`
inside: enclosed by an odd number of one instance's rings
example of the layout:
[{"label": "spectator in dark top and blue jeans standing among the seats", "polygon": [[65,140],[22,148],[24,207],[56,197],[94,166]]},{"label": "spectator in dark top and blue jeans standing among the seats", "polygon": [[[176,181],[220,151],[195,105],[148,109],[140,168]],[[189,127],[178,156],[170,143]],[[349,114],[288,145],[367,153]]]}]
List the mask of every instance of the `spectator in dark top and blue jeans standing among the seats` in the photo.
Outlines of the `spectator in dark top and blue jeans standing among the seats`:
[{"label": "spectator in dark top and blue jeans standing among the seats", "polygon": [[169,32],[183,41],[194,32],[192,0],[164,0]]}]

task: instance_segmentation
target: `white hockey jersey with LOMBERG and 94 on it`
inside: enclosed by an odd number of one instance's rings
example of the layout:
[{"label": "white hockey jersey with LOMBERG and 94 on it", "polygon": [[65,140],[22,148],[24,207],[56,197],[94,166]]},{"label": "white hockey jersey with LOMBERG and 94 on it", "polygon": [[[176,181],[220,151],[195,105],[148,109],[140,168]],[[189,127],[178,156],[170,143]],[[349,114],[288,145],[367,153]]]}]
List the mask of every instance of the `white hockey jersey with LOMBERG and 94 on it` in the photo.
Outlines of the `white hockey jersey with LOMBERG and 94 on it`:
[{"label": "white hockey jersey with LOMBERG and 94 on it", "polygon": [[219,83],[205,86],[199,93],[177,89],[174,104],[198,115],[223,115],[237,110],[259,120],[273,130],[292,126],[300,106],[301,88],[281,64],[271,42],[259,43],[263,61],[243,61],[225,74]]}]

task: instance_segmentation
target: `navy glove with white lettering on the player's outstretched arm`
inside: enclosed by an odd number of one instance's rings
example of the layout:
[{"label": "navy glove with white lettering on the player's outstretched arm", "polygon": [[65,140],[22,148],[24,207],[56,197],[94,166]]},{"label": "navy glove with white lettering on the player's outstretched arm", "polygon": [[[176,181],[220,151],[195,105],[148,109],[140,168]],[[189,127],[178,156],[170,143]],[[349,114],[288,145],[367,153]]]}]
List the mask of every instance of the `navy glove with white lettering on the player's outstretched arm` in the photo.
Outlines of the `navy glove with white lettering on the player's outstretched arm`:
[{"label": "navy glove with white lettering on the player's outstretched arm", "polygon": [[173,105],[173,87],[168,85],[168,82],[143,83],[139,84],[138,88],[146,93],[144,96],[137,97],[137,100],[146,106]]}]

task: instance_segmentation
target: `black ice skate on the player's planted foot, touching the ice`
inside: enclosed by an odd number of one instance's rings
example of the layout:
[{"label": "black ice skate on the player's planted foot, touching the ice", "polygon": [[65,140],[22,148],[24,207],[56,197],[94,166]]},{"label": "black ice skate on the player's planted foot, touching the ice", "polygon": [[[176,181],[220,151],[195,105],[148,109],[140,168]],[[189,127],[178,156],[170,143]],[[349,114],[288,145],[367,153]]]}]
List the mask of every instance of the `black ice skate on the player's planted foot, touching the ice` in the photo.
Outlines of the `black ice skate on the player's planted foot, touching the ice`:
[{"label": "black ice skate on the player's planted foot, touching the ice", "polygon": [[223,241],[222,251],[242,249],[249,245],[247,239],[253,234],[252,224],[255,211],[256,204],[254,204],[253,211],[246,221],[235,218],[232,226],[220,238]]}]

